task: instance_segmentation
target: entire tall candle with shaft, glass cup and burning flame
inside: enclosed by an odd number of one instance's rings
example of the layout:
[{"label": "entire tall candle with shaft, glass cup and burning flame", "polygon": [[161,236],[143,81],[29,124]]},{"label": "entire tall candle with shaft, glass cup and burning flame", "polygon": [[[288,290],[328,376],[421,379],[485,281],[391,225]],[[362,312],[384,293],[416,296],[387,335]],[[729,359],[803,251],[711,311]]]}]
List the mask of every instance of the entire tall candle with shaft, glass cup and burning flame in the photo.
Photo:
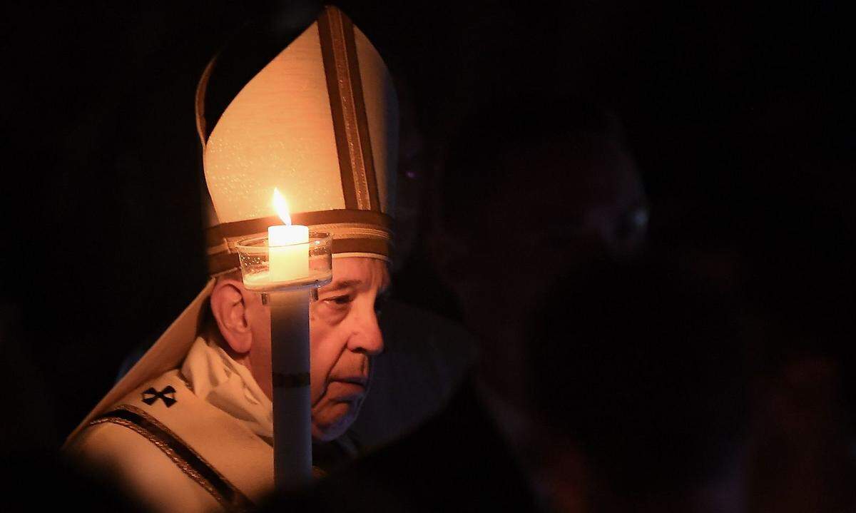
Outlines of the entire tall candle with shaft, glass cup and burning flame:
[{"label": "entire tall candle with shaft, glass cup and burning flame", "polygon": [[291,224],[276,188],[273,205],[283,224],[270,226],[267,237],[235,247],[244,286],[261,293],[270,306],[274,476],[277,487],[294,488],[312,478],[309,293],[333,277],[331,237]]}]

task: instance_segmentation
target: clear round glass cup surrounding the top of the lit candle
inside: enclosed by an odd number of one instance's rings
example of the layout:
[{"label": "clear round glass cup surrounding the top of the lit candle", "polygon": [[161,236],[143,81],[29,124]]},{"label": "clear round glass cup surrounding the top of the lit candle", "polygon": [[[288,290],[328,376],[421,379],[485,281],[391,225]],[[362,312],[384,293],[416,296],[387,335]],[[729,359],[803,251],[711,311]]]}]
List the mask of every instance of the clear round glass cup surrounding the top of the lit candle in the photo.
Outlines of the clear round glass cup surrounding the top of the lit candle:
[{"label": "clear round glass cup surrounding the top of the lit candle", "polygon": [[235,244],[247,290],[277,292],[323,287],[333,279],[333,236],[310,231],[309,242],[269,246],[267,237]]}]

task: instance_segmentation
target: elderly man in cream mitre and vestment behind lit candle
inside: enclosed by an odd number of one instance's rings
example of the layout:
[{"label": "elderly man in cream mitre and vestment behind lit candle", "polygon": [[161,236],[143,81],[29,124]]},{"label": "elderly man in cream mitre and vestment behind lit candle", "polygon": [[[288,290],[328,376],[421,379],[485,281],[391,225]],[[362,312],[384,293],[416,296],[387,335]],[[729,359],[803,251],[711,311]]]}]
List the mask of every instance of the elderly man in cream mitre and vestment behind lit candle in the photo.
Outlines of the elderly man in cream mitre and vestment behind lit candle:
[{"label": "elderly man in cream mitre and vestment behind lit candle", "polygon": [[[284,49],[283,49],[284,47]],[[332,283],[309,310],[312,436],[342,438],[383,349],[397,111],[383,60],[335,8],[248,25],[209,64],[197,121],[210,193],[211,280],[69,437],[153,510],[243,510],[273,488],[270,308],[237,271],[235,242],[271,224],[333,234]],[[334,455],[335,457],[335,455]]]}]

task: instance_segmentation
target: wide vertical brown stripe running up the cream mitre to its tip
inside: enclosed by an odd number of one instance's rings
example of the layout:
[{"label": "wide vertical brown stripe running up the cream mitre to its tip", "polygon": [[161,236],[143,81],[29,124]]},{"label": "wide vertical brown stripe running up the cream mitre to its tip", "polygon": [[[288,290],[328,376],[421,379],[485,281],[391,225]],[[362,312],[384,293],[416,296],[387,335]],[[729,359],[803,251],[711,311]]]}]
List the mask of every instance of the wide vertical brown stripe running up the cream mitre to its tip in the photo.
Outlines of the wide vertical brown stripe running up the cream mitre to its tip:
[{"label": "wide vertical brown stripe running up the cream mitre to its tip", "polygon": [[345,207],[380,212],[354,24],[341,10],[327,6],[318,17],[318,36]]}]

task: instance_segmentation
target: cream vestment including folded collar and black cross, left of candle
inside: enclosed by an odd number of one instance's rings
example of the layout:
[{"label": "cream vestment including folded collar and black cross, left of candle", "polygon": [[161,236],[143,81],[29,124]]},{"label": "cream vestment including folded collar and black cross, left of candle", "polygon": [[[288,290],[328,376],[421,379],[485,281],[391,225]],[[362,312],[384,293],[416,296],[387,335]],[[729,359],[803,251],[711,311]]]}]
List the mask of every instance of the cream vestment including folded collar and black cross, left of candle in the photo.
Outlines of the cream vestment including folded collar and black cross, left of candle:
[{"label": "cream vestment including folded collar and black cross, left of candle", "polygon": [[66,448],[156,511],[245,510],[273,491],[273,409],[247,367],[198,337]]}]

